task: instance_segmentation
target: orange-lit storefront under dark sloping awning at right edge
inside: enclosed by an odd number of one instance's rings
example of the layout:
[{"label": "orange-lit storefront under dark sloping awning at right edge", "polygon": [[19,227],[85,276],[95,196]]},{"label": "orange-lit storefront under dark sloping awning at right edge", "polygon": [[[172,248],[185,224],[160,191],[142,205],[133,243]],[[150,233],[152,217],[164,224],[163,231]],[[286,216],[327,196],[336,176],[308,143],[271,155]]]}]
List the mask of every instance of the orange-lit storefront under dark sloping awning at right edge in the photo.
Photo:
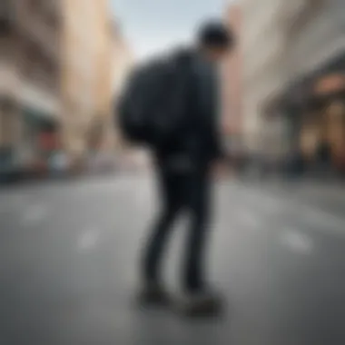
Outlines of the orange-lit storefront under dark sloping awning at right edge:
[{"label": "orange-lit storefront under dark sloping awning at right edge", "polygon": [[345,53],[291,85],[282,105],[304,169],[345,173]]}]

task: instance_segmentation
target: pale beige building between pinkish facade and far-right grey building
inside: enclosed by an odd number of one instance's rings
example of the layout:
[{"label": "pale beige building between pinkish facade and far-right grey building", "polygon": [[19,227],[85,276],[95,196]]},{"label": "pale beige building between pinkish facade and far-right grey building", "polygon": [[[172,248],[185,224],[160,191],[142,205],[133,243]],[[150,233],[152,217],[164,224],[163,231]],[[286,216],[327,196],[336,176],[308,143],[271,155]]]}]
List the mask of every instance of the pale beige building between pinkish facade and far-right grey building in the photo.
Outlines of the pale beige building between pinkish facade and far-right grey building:
[{"label": "pale beige building between pinkish facade and far-right grey building", "polygon": [[285,36],[281,18],[286,2],[242,1],[243,14],[243,128],[252,153],[266,146],[262,133],[265,104],[280,94],[284,84]]}]

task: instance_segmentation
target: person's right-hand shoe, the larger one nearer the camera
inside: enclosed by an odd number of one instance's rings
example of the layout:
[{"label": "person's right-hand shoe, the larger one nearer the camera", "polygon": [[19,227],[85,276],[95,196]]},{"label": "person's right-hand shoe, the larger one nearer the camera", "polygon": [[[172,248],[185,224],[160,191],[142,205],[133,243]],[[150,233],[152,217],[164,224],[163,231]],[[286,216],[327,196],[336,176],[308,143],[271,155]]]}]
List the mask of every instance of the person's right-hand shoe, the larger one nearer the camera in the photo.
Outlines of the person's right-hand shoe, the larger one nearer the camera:
[{"label": "person's right-hand shoe, the larger one nearer the camera", "polygon": [[221,296],[210,291],[189,295],[182,302],[182,314],[187,317],[219,317],[223,311]]}]

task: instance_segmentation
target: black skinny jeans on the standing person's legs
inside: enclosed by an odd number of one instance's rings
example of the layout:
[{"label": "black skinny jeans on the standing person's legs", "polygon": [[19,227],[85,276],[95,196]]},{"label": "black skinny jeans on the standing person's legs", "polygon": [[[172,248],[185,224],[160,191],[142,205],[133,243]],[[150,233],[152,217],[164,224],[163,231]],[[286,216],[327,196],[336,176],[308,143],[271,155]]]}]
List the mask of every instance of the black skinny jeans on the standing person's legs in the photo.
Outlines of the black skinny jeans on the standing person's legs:
[{"label": "black skinny jeans on the standing person's legs", "polygon": [[143,275],[147,282],[159,282],[160,264],[173,222],[183,211],[190,218],[190,228],[182,262],[182,284],[186,291],[204,287],[204,247],[210,204],[209,169],[206,164],[193,172],[177,173],[158,167],[163,210],[156,220],[144,252]]}]

